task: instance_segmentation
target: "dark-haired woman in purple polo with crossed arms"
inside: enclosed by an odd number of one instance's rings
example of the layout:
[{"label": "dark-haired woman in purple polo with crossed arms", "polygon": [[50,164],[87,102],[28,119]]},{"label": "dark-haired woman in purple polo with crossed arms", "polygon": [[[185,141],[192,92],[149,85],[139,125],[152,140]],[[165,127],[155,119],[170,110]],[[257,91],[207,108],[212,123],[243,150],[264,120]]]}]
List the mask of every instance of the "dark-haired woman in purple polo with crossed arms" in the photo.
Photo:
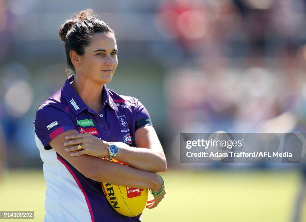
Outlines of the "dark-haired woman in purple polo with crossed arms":
[{"label": "dark-haired woman in purple polo with crossed arms", "polygon": [[140,215],[115,212],[101,189],[102,181],[149,188],[158,194],[149,209],[165,195],[155,172],[166,170],[166,159],[146,108],[106,87],[118,64],[114,32],[86,10],[67,20],[59,35],[75,74],[36,113],[45,221],[140,221]]}]

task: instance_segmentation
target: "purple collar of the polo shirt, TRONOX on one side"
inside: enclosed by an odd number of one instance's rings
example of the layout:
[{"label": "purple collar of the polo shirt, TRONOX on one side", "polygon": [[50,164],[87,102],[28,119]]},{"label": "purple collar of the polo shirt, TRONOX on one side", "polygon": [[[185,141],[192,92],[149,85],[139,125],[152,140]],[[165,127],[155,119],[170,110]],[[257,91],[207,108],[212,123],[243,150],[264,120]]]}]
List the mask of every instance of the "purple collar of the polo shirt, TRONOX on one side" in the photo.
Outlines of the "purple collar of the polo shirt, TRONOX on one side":
[{"label": "purple collar of the polo shirt, TRONOX on one side", "polygon": [[[69,108],[77,115],[87,109],[88,106],[84,103],[82,98],[76,93],[76,91],[70,84],[73,79],[74,75],[69,76],[66,82],[64,83],[61,91],[64,98],[66,99],[66,102],[69,105]],[[104,85],[103,87],[102,104],[102,107],[104,107],[105,104],[108,104],[112,109],[115,110],[116,108],[116,104],[109,95],[106,85]]]}]

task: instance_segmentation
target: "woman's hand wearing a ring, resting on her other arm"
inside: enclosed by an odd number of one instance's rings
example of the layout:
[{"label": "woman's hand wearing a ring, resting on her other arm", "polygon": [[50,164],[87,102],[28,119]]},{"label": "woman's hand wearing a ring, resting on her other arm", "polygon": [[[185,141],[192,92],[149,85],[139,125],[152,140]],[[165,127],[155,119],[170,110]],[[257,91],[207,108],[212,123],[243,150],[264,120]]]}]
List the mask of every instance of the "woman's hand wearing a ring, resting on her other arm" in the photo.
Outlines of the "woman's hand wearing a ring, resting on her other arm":
[{"label": "woman's hand wearing a ring, resting on her other arm", "polygon": [[[65,137],[69,140],[64,143],[68,146],[65,151],[72,152],[71,156],[91,155],[95,157],[108,156],[108,142],[105,142],[90,133],[69,135]],[[82,149],[78,149],[81,144]]]}]

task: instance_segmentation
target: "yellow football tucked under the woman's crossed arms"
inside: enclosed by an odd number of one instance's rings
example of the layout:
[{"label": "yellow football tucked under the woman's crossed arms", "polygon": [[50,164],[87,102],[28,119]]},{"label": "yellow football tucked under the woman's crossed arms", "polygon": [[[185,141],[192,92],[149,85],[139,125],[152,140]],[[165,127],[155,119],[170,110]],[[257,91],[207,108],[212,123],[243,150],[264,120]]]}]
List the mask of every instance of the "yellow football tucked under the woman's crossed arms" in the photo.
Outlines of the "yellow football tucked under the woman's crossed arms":
[{"label": "yellow football tucked under the woman's crossed arms", "polygon": [[[127,165],[115,159],[112,161]],[[106,182],[102,182],[102,189],[111,207],[121,215],[129,217],[137,216],[145,208],[148,189],[114,185]]]}]

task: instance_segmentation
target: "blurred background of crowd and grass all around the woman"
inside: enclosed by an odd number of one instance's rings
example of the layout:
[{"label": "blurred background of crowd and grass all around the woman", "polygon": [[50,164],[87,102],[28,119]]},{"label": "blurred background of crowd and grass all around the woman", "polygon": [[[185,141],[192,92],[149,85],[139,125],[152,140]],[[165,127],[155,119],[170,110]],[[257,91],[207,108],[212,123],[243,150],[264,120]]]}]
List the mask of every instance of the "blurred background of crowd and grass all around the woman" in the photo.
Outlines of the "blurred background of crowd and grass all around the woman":
[{"label": "blurred background of crowd and grass all around the woman", "polygon": [[67,78],[58,28],[87,8],[116,32],[108,88],[141,100],[168,159],[143,221],[306,221],[305,167],[179,159],[181,132],[305,132],[306,0],[0,0],[0,211],[43,220],[33,121]]}]

